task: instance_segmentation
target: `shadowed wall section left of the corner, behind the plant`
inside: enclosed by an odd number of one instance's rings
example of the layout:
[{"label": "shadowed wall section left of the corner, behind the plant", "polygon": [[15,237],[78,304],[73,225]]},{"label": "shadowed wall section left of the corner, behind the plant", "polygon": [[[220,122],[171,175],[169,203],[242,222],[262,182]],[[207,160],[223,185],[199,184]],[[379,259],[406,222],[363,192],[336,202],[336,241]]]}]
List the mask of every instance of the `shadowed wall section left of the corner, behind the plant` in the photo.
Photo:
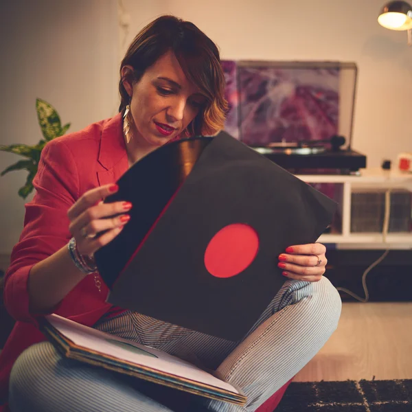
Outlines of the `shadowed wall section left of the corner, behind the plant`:
[{"label": "shadowed wall section left of the corner, behind the plant", "polygon": [[[117,109],[117,5],[113,0],[0,2],[0,144],[41,139],[35,102],[53,104],[69,131]],[[0,152],[0,169],[21,157]],[[0,178],[0,253],[10,253],[23,227],[17,190],[27,172]]]}]

